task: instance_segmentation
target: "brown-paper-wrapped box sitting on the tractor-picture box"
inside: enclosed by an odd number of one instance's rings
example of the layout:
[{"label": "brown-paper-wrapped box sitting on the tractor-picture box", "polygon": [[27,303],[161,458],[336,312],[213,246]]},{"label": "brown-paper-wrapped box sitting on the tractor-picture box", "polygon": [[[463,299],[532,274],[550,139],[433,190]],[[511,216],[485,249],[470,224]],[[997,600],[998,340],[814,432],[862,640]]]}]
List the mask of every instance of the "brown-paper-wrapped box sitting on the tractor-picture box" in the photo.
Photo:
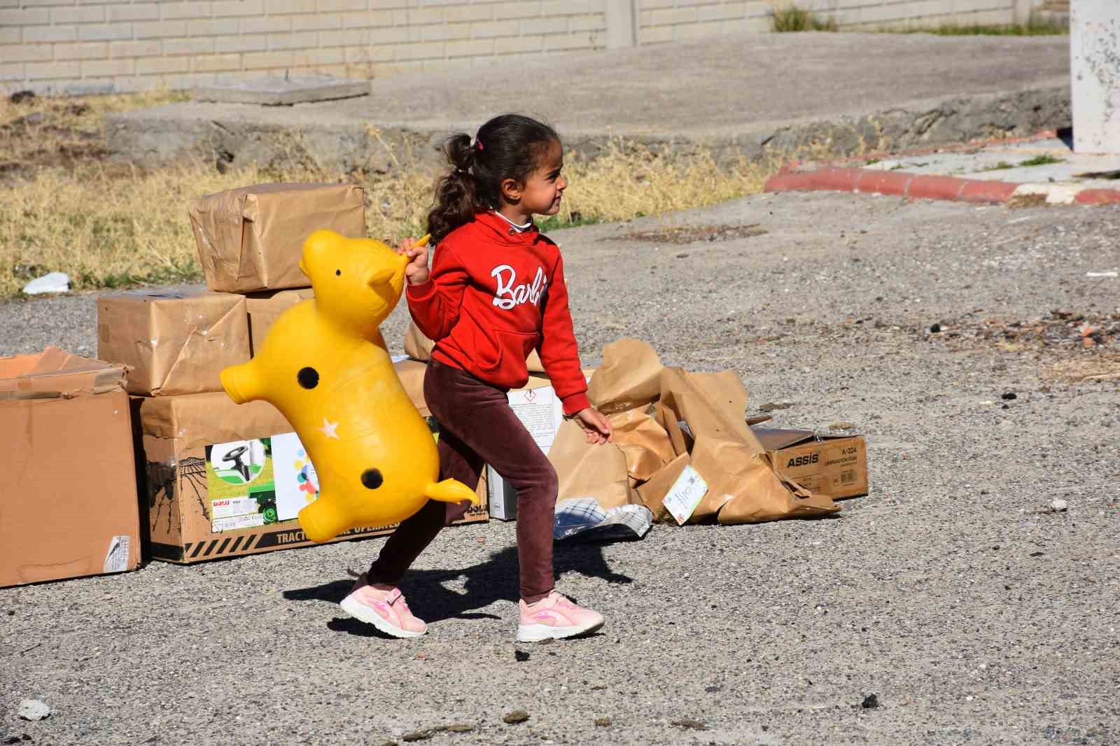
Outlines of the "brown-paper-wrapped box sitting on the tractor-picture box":
[{"label": "brown-paper-wrapped box sitting on the tractor-picture box", "polygon": [[136,290],[97,299],[97,356],[128,366],[130,393],[222,391],[222,369],[249,362],[245,298]]}]

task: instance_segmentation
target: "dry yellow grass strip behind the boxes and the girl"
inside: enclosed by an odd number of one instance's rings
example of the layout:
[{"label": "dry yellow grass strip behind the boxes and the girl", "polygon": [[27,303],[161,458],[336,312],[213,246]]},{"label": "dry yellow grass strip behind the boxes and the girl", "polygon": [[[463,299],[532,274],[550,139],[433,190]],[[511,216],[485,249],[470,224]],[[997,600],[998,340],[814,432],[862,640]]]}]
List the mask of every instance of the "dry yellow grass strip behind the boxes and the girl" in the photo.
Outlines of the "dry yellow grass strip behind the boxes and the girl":
[{"label": "dry yellow grass strip behind the boxes and the girl", "polygon": [[[298,148],[280,167],[224,174],[212,162],[146,170],[104,158],[104,113],[169,97],[0,104],[0,164],[15,164],[0,171],[0,296],[49,271],[67,272],[74,289],[198,281],[187,204],[262,181],[353,181],[366,189],[368,235],[395,241],[423,233],[436,175],[412,167],[409,153],[398,155],[399,168],[389,175],[326,172]],[[28,123],[36,112],[43,116]],[[17,137],[28,128],[35,137]],[[594,161],[569,155],[567,164],[570,186],[548,229],[715,204],[759,192],[776,170],[745,158],[717,165],[707,153],[653,151],[622,140]]]}]

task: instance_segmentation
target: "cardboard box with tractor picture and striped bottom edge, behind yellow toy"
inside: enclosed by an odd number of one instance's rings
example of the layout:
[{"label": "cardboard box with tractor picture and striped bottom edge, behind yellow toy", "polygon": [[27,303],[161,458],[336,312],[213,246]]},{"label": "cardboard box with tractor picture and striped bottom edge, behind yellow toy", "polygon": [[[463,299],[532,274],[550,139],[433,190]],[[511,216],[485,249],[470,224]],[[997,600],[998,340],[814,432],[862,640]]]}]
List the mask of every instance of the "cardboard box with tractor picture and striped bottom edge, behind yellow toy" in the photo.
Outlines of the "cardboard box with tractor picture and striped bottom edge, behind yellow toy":
[{"label": "cardboard box with tractor picture and striped bottom edge, behind yellow toy", "polygon": [[[133,407],[155,559],[190,563],[314,543],[296,517],[314,500],[314,467],[274,407],[234,404],[225,393],[136,398]],[[438,438],[431,418],[429,426]],[[485,481],[478,494],[479,505],[457,523],[488,519]],[[353,529],[332,541],[394,528]]]}]

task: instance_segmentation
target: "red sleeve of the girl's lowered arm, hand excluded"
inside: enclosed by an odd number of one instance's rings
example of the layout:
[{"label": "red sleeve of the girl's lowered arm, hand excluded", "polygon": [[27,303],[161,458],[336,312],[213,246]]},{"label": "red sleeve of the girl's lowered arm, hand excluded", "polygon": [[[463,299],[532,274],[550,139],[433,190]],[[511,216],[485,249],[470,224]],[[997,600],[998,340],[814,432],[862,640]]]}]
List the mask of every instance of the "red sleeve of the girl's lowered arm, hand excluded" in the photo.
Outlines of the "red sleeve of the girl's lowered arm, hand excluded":
[{"label": "red sleeve of the girl's lowered arm, hand excluded", "polygon": [[579,365],[579,347],[571,326],[562,257],[557,258],[543,305],[541,342],[536,352],[544,364],[544,372],[552,380],[557,397],[563,402],[563,413],[572,416],[589,408],[591,402],[587,399],[587,381]]}]

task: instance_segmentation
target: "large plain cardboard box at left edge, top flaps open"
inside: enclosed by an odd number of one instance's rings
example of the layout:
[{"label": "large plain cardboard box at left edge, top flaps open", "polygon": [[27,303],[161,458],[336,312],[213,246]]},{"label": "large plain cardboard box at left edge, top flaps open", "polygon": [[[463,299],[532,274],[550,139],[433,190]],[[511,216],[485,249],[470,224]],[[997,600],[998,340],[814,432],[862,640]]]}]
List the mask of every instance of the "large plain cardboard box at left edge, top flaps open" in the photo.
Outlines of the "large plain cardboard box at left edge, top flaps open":
[{"label": "large plain cardboard box at left edge, top flaps open", "polygon": [[0,360],[0,586],[133,570],[124,369],[48,347]]}]

